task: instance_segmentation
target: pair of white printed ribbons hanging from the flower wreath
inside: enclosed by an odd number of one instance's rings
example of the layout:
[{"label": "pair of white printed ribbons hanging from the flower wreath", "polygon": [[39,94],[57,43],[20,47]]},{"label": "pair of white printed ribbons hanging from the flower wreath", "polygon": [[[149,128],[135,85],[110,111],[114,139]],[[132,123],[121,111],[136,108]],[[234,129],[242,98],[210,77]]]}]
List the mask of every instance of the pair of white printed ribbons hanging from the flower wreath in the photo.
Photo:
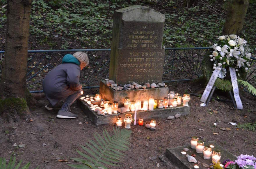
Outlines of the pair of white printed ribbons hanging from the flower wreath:
[{"label": "pair of white printed ribbons hanging from the flower wreath", "polygon": [[[229,67],[230,70],[230,77],[231,77],[231,82],[232,82],[232,87],[233,87],[233,92],[234,92],[234,98],[237,104],[237,109],[243,109],[243,105],[239,96],[239,88],[238,88],[238,83],[237,83],[237,75],[236,71],[234,68]],[[209,82],[207,83],[207,86],[205,87],[205,91],[202,94],[201,100],[202,102],[206,102],[207,98],[209,97],[209,94],[211,92],[211,89],[218,77],[218,74],[221,71],[221,67],[218,66],[212,73]]]}]

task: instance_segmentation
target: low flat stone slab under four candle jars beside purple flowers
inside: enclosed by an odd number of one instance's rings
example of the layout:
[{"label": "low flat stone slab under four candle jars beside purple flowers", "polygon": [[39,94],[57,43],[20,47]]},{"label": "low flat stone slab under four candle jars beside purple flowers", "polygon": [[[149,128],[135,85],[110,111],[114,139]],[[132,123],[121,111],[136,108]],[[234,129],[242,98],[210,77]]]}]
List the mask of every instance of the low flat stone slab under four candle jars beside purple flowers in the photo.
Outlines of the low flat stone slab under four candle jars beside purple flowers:
[{"label": "low flat stone slab under four candle jars beside purple flowers", "polygon": [[[188,141],[189,143],[189,141]],[[204,142],[205,146],[214,146],[212,148],[213,150],[220,150],[221,152],[221,162],[223,162],[226,159],[230,160],[235,160],[237,157],[233,155],[232,153],[228,152],[226,149],[221,147],[220,145],[216,144],[214,141],[209,141],[209,142]],[[189,151],[184,152],[184,148],[188,148]],[[183,152],[183,153],[182,153]],[[195,159],[197,161],[200,161],[200,164],[198,163],[190,163],[188,161],[188,158],[186,157],[186,154],[195,154]],[[173,163],[177,168],[179,169],[194,169],[194,166],[197,165],[199,168],[205,168],[202,163],[210,164],[211,163],[211,158],[210,159],[204,159],[204,155],[196,153],[195,149],[191,148],[191,145],[184,145],[184,146],[179,146],[179,147],[174,147],[174,148],[167,148],[165,156]]]}]

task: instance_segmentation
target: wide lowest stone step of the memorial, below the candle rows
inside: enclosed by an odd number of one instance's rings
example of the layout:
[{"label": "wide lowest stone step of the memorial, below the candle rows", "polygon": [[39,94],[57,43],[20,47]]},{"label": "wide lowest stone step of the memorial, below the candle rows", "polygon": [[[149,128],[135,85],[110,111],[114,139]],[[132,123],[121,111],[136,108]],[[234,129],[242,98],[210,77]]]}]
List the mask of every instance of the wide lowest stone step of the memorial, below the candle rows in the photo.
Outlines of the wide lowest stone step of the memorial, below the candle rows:
[{"label": "wide lowest stone step of the memorial, below the candle rows", "polygon": [[[115,124],[116,122],[116,117],[121,116],[122,121],[125,118],[126,114],[131,114],[132,118],[134,118],[134,112],[126,112],[126,113],[117,113],[117,114],[106,114],[104,116],[102,115],[97,115],[97,112],[94,112],[93,110],[90,109],[90,105],[88,105],[85,101],[80,100],[80,98],[77,99],[77,104],[81,107],[83,112],[87,115],[87,117],[95,124],[96,126],[102,125],[102,124]],[[168,116],[174,116],[176,114],[181,114],[181,116],[189,115],[189,106],[177,106],[175,108],[156,108],[154,110],[140,110],[137,111],[137,119],[138,118],[143,118],[144,120],[147,119],[154,119],[154,118],[167,118]],[[123,126],[124,126],[123,122]]]}]

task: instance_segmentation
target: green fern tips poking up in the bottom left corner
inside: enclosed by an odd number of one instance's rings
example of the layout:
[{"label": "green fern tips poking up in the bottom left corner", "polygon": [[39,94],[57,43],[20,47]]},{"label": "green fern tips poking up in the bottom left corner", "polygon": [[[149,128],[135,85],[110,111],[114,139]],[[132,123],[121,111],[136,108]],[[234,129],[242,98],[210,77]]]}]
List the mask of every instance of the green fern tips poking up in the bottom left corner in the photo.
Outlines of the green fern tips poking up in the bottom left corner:
[{"label": "green fern tips poking up in the bottom left corner", "polygon": [[[10,157],[10,161],[9,163],[7,164],[6,163],[6,159],[5,158],[2,158],[0,157],[0,169],[19,169],[21,163],[22,163],[22,160],[19,161],[19,163],[17,164],[17,166],[15,166],[15,163],[16,163],[16,157]],[[30,162],[27,163],[25,166],[22,167],[22,169],[28,169],[29,168],[29,165],[30,165]]]}]

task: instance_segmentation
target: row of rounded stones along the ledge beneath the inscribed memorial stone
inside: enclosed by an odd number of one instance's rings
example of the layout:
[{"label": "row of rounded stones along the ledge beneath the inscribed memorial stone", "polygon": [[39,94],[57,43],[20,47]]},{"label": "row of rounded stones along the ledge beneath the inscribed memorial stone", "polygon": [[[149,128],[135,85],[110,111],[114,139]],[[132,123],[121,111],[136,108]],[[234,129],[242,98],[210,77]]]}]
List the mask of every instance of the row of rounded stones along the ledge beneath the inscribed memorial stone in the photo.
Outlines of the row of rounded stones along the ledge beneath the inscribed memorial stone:
[{"label": "row of rounded stones along the ledge beneath the inscribed memorial stone", "polygon": [[131,90],[131,89],[147,89],[147,88],[156,88],[156,87],[167,87],[167,84],[164,82],[161,83],[145,83],[144,85],[137,84],[132,82],[131,84],[116,84],[114,80],[105,79],[106,85],[114,89],[118,90]]}]

